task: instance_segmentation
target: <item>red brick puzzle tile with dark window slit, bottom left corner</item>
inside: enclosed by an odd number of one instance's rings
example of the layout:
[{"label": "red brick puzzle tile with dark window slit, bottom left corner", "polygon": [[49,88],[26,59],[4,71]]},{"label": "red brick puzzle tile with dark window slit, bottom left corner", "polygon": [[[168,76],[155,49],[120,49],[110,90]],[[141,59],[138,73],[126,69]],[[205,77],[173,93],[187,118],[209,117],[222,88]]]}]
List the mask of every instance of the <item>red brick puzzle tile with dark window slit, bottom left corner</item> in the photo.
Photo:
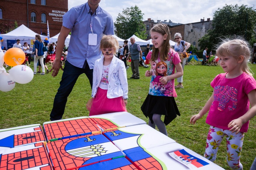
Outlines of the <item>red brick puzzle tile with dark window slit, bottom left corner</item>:
[{"label": "red brick puzzle tile with dark window slit, bottom left corner", "polygon": [[43,142],[0,150],[1,170],[52,170]]}]

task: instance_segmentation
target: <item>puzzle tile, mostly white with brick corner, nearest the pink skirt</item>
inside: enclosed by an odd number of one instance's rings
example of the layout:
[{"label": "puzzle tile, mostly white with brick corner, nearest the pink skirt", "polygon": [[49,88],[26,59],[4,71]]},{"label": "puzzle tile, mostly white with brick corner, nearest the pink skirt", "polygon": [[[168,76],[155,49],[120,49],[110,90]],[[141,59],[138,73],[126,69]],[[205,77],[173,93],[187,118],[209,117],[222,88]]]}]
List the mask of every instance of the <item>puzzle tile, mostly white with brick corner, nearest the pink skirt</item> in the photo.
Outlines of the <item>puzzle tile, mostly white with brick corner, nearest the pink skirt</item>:
[{"label": "puzzle tile, mostly white with brick corner, nearest the pink skirt", "polygon": [[89,117],[102,129],[102,131],[147,124],[144,120],[139,119],[128,112],[107,113]]}]

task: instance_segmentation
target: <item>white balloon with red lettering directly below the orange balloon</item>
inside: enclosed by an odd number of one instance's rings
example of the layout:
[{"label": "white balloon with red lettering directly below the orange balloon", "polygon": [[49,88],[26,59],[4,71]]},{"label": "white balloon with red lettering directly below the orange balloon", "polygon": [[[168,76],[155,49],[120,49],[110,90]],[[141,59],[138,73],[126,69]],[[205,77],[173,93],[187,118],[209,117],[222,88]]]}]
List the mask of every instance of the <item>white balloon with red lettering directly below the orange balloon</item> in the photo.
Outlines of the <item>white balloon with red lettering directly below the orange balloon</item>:
[{"label": "white balloon with red lettering directly below the orange balloon", "polygon": [[33,70],[22,64],[12,67],[9,73],[13,80],[20,84],[29,83],[34,77]]}]

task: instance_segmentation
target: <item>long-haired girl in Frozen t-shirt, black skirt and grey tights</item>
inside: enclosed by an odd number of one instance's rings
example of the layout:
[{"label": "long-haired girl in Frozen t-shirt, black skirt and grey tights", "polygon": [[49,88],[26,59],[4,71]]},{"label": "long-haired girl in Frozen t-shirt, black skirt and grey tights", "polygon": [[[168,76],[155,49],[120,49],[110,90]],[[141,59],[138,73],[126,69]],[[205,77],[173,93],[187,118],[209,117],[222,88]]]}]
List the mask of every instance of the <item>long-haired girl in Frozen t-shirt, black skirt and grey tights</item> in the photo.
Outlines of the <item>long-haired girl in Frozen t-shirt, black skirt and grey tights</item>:
[{"label": "long-haired girl in Frozen t-shirt, black skirt and grey tights", "polygon": [[[146,63],[151,69],[145,72],[151,77],[148,95],[141,106],[143,114],[149,118],[148,125],[167,135],[166,125],[180,112],[174,100],[177,93],[174,79],[183,75],[181,60],[177,52],[170,48],[170,32],[166,24],[157,24],[150,30],[153,50],[148,52]],[[177,72],[175,72],[175,68]],[[161,116],[164,115],[164,121]]]}]

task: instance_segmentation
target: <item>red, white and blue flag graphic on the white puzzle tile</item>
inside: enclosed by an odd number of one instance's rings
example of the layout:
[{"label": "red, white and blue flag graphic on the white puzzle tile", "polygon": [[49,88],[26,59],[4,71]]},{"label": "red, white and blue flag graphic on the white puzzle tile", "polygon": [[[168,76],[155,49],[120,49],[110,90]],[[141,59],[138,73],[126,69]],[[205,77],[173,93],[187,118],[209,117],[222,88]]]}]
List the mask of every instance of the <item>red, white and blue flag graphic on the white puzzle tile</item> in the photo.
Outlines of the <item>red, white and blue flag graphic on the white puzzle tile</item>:
[{"label": "red, white and blue flag graphic on the white puzzle tile", "polygon": [[200,168],[202,166],[206,166],[209,163],[194,157],[193,155],[189,154],[184,149],[181,149],[179,151],[171,152],[169,153],[171,157],[173,157],[175,160],[181,162],[185,166],[187,166],[189,169],[196,169]]}]

